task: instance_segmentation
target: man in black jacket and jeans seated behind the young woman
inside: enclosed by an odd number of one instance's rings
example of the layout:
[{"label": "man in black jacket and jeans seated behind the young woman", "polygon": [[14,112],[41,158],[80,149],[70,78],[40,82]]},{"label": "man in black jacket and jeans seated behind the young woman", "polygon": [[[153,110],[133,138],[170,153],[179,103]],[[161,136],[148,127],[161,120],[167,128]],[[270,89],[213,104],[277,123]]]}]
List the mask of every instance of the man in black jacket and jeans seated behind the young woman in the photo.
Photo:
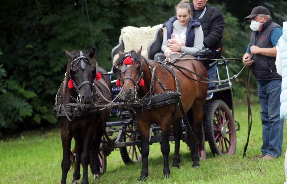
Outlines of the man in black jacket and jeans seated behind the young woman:
[{"label": "man in black jacket and jeans seated behind the young woman", "polygon": [[[220,57],[223,38],[224,21],[223,16],[218,9],[206,4],[208,0],[193,0],[190,4],[191,12],[194,19],[198,19],[201,23],[204,40],[203,48],[212,50],[208,54],[209,59],[217,59]],[[217,62],[212,60],[203,61],[207,69],[208,78],[215,80]],[[209,83],[208,86],[214,86],[215,83]]]}]

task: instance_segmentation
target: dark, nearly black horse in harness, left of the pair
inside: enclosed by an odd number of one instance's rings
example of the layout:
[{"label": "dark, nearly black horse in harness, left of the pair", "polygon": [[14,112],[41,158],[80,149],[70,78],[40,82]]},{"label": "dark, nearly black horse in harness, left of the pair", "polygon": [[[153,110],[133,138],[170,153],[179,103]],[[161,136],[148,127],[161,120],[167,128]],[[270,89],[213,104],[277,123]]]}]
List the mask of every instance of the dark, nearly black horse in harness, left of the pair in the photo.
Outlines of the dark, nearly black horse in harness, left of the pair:
[{"label": "dark, nearly black horse in harness, left of the pair", "polygon": [[[93,105],[108,104],[111,101],[111,81],[107,72],[94,64],[93,48],[88,54],[82,51],[65,50],[68,56],[66,77],[56,96],[56,117],[60,122],[63,147],[62,180],[66,183],[71,167],[71,140],[75,140],[75,170],[72,183],[81,178],[80,165],[83,167],[82,183],[88,182],[90,151],[93,156],[92,173],[100,177],[98,151],[103,136],[102,127],[110,115],[110,109],[93,109]],[[104,96],[99,95],[102,94]]]}]

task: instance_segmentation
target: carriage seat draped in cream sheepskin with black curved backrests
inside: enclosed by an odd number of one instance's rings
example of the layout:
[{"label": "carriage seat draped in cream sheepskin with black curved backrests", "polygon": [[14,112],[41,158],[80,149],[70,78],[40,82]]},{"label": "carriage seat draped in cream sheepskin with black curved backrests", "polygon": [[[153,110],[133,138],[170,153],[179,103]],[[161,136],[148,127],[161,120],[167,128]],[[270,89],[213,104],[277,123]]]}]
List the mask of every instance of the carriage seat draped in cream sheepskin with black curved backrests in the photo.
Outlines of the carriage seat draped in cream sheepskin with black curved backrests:
[{"label": "carriage seat draped in cream sheepskin with black curved backrests", "polygon": [[112,61],[118,58],[119,51],[137,51],[141,46],[143,46],[141,55],[152,60],[154,55],[161,51],[164,30],[165,28],[162,28],[162,24],[153,27],[136,28],[128,26],[122,28],[119,43],[111,52]]}]

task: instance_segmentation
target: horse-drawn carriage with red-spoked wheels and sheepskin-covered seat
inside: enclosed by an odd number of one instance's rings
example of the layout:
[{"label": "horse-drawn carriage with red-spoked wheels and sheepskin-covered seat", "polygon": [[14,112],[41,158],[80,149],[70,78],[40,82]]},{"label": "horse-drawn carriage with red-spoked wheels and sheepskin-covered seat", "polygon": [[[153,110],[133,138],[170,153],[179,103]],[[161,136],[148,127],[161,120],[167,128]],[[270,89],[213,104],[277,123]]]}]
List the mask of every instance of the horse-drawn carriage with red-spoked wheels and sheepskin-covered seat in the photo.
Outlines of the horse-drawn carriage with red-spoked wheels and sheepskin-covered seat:
[{"label": "horse-drawn carriage with red-spoked wheels and sheepskin-covered seat", "polygon": [[[162,43],[163,29],[161,26],[155,26],[148,28],[152,30],[152,33],[147,33],[144,30],[145,35],[151,38],[145,39],[146,44],[146,56],[153,59],[154,54],[160,51]],[[132,29],[127,27],[127,29]],[[124,52],[128,50],[125,47],[130,47],[127,43],[124,43],[124,34],[127,29],[122,30],[122,35],[117,46],[115,46],[111,53],[112,60],[118,51]],[[140,28],[142,29],[142,28]],[[133,33],[135,30],[131,30]],[[138,30],[136,30],[138,31]],[[129,39],[131,35],[126,33]],[[134,33],[133,33],[134,34]],[[138,34],[134,34],[138,35]],[[135,38],[137,39],[137,38]],[[143,45],[143,41],[141,42]],[[134,46],[132,46],[134,48]],[[145,48],[145,47],[144,47]],[[130,48],[129,48],[130,49]],[[198,57],[203,57],[205,53],[201,53]],[[224,59],[224,57],[222,57]],[[218,61],[217,65],[217,79],[229,78],[228,60]],[[109,72],[112,74],[112,72]],[[112,78],[111,78],[112,79]],[[112,80],[112,94],[118,95],[121,87],[116,85],[117,80]],[[113,98],[114,98],[113,97]],[[121,101],[119,101],[121,102]],[[122,102],[121,102],[122,103]],[[119,104],[119,103],[118,103]],[[103,174],[107,167],[107,156],[114,150],[120,150],[122,160],[125,164],[137,163],[142,160],[141,156],[141,140],[140,132],[137,127],[137,120],[131,115],[130,110],[125,109],[125,106],[121,106],[121,110],[111,108],[111,120],[107,122],[106,134],[102,138],[99,151],[99,165],[100,172]],[[186,141],[187,127],[180,118],[180,124],[182,129],[181,140]],[[233,88],[231,81],[218,83],[215,86],[209,87],[207,90],[206,102],[204,105],[203,123],[200,130],[201,142],[198,145],[198,154],[201,159],[205,159],[205,142],[208,141],[209,147],[213,155],[232,155],[236,149],[236,131],[240,129],[239,123],[234,120],[234,104],[233,104]],[[153,123],[150,127],[149,143],[162,142],[161,127]],[[172,131],[171,131],[172,132]],[[108,140],[107,140],[108,139]],[[174,141],[173,133],[169,136],[169,141]],[[90,160],[90,165],[93,165],[93,157]]]}]

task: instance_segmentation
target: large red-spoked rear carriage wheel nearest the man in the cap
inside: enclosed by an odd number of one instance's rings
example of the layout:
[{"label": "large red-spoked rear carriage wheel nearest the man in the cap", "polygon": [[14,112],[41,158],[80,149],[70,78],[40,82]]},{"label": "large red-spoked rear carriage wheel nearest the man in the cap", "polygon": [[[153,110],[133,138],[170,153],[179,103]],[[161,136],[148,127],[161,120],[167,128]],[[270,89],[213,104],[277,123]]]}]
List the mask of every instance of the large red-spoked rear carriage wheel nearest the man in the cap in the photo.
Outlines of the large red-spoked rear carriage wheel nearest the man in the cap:
[{"label": "large red-spoked rear carriage wheel nearest the man in the cap", "polygon": [[205,135],[213,155],[233,155],[236,149],[234,120],[222,100],[209,104],[205,113]]}]

